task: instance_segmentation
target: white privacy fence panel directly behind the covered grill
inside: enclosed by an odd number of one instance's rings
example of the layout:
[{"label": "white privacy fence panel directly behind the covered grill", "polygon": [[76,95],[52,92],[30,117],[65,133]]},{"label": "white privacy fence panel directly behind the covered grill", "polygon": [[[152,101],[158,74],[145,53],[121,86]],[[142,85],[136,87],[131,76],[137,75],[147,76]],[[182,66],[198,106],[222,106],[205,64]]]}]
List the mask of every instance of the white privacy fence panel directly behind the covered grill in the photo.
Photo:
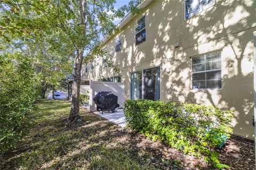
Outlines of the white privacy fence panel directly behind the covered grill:
[{"label": "white privacy fence panel directly behind the covered grill", "polygon": [[93,97],[100,91],[111,91],[118,97],[117,103],[120,105],[120,107],[124,107],[124,83],[90,80],[90,112],[96,110]]}]

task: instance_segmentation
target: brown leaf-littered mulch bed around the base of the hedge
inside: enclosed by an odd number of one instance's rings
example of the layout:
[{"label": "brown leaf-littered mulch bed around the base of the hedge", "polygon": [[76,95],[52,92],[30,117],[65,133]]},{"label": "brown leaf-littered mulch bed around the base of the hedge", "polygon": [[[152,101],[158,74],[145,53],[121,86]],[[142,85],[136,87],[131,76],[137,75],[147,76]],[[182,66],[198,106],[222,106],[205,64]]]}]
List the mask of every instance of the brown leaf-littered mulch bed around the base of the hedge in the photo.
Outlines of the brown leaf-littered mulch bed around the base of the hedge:
[{"label": "brown leaf-littered mulch bed around the base of the hedge", "polygon": [[[95,115],[98,116],[98,115]],[[102,118],[99,116],[99,118]],[[209,164],[206,164],[203,159],[198,159],[194,156],[183,155],[181,151],[175,148],[164,145],[161,142],[153,142],[145,135],[134,133],[131,130],[122,129],[119,133],[124,135],[129,134],[127,143],[133,143],[139,149],[144,149],[153,152],[155,156],[164,159],[172,160],[179,163],[185,169],[216,169]],[[237,135],[231,135],[225,145],[219,150],[220,162],[227,164],[230,169],[255,169],[255,150],[254,141],[245,139]]]}]

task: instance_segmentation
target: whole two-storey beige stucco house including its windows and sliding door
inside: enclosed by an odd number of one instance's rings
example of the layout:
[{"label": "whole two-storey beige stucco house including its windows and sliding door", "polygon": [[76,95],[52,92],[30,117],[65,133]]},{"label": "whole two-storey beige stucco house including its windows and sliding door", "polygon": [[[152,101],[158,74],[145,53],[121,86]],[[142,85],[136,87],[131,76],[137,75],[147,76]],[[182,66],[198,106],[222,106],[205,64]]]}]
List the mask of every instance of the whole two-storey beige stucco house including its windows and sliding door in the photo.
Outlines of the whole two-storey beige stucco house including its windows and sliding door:
[{"label": "whole two-storey beige stucco house including its windows and sliding door", "polygon": [[121,81],[126,99],[161,99],[234,111],[234,133],[253,138],[255,0],[145,1],[87,64],[83,79]]}]

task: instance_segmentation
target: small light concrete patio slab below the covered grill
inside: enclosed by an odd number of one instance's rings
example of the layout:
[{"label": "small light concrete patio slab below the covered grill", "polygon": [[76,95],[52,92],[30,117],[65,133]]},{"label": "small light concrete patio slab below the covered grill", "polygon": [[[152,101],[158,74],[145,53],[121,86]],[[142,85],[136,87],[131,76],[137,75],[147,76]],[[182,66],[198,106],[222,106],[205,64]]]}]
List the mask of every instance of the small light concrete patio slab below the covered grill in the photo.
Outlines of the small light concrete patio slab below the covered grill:
[{"label": "small light concrete patio slab below the covered grill", "polygon": [[126,120],[124,116],[124,111],[123,109],[118,109],[117,112],[111,113],[111,112],[103,112],[103,114],[99,112],[93,112],[101,117],[106,118],[107,120],[114,122],[115,124],[125,127],[126,126]]}]

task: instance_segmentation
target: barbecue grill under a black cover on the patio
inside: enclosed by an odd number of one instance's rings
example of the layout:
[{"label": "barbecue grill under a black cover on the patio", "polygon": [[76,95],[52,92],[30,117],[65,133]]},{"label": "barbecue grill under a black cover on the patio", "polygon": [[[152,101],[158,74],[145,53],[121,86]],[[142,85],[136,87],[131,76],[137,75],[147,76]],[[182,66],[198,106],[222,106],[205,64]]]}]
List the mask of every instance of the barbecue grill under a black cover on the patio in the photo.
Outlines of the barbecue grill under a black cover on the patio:
[{"label": "barbecue grill under a black cover on the patio", "polygon": [[97,105],[97,111],[103,112],[111,111],[115,112],[115,109],[119,107],[117,103],[117,96],[112,94],[111,91],[101,91],[93,98],[95,105]]}]

